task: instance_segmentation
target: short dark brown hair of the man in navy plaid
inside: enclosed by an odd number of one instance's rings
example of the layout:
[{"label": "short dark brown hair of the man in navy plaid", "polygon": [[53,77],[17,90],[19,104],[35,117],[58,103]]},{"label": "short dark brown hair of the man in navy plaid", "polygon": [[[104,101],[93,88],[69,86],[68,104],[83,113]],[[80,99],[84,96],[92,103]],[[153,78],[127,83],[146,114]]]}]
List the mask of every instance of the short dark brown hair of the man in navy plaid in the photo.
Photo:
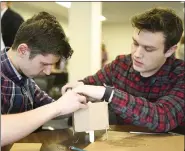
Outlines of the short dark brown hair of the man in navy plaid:
[{"label": "short dark brown hair of the man in navy plaid", "polygon": [[40,12],[22,23],[12,49],[16,50],[21,43],[30,48],[30,58],[38,54],[53,54],[68,59],[73,53],[62,26],[47,12]]}]

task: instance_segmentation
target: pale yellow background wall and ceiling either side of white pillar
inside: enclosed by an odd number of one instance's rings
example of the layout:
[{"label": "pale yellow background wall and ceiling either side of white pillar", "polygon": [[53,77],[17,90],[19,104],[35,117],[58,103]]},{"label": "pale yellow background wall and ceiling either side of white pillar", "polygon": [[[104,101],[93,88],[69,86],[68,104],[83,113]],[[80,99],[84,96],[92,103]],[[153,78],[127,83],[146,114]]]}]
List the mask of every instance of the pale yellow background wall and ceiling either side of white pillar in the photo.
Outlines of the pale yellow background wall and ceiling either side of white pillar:
[{"label": "pale yellow background wall and ceiling either side of white pillar", "polygon": [[[130,53],[132,43],[130,18],[155,6],[173,8],[184,20],[183,2],[102,2],[102,15],[106,18],[102,22],[102,42],[106,45],[108,52],[107,62],[112,61],[119,54]],[[47,11],[57,17],[66,34],[69,33],[70,8],[67,8],[68,6],[64,7],[55,2],[12,2],[11,7],[24,19],[28,19],[37,12]]]}]

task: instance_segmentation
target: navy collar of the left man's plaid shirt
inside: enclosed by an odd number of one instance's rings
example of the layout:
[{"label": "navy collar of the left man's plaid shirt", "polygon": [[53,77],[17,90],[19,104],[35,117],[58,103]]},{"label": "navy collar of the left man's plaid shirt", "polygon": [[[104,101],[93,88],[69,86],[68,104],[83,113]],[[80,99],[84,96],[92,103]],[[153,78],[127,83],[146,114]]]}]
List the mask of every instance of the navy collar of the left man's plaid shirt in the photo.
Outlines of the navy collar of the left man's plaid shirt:
[{"label": "navy collar of the left man's plaid shirt", "polygon": [[22,77],[11,63],[6,53],[8,49],[9,48],[6,47],[1,53],[1,71],[5,76],[14,81],[16,84],[22,85],[24,84],[26,78]]}]

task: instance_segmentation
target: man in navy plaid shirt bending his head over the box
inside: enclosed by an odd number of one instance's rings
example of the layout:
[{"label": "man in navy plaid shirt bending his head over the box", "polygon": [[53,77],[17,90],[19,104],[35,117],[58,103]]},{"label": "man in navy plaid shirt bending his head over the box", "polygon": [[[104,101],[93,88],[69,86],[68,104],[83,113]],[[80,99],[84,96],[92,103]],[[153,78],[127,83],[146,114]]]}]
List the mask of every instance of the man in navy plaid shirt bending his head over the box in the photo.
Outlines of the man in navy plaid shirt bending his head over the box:
[{"label": "man in navy plaid shirt bending his head over the box", "polygon": [[72,55],[54,16],[41,12],[25,21],[12,47],[6,49],[1,52],[1,146],[25,137],[52,118],[87,107],[86,98],[71,90],[54,101],[32,79],[49,75],[61,57]]}]

